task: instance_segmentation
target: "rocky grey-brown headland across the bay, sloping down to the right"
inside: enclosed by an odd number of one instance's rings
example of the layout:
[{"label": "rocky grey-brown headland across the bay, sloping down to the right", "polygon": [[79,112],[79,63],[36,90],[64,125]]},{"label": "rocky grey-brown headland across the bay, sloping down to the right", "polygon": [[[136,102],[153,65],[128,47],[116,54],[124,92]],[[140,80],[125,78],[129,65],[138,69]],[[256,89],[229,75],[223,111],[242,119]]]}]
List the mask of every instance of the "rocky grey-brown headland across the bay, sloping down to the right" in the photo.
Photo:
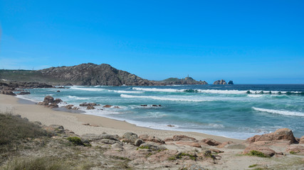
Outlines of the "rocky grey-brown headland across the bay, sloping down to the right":
[{"label": "rocky grey-brown headland across the bay, sloping down to the right", "polygon": [[[79,64],[70,67],[51,67],[40,70],[0,70],[0,79],[9,81],[39,82],[51,85],[88,86],[164,86],[182,84],[208,84],[192,77],[169,78],[162,81],[142,79],[135,74],[115,69],[109,64]],[[225,82],[226,83],[226,82]]]}]

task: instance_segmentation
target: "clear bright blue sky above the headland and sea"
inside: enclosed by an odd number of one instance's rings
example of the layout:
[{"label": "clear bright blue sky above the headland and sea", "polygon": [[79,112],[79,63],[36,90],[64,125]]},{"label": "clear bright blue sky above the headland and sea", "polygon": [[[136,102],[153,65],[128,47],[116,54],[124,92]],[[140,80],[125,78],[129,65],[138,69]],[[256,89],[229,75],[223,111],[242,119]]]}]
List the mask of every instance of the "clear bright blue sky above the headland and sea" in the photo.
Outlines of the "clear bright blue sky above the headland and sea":
[{"label": "clear bright blue sky above the headland and sea", "polygon": [[304,84],[304,1],[0,0],[0,69]]}]

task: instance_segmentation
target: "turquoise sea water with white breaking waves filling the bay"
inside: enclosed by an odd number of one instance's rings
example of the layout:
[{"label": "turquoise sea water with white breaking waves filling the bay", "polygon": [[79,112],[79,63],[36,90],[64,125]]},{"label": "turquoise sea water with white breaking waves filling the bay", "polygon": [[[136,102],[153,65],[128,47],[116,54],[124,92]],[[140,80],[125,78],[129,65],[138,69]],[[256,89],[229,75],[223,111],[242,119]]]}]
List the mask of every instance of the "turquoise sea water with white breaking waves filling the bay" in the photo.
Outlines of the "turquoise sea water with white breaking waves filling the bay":
[{"label": "turquoise sea water with white breaking waves filling the bay", "polygon": [[[236,139],[290,128],[304,135],[304,85],[65,86],[19,96],[61,98],[85,111],[160,130],[203,132]],[[57,92],[60,90],[61,92]],[[98,103],[94,110],[80,103]],[[119,108],[103,108],[104,105]],[[147,105],[147,106],[141,106]],[[157,105],[157,106],[152,106]],[[161,106],[159,106],[161,105]],[[168,126],[170,125],[170,126]]]}]

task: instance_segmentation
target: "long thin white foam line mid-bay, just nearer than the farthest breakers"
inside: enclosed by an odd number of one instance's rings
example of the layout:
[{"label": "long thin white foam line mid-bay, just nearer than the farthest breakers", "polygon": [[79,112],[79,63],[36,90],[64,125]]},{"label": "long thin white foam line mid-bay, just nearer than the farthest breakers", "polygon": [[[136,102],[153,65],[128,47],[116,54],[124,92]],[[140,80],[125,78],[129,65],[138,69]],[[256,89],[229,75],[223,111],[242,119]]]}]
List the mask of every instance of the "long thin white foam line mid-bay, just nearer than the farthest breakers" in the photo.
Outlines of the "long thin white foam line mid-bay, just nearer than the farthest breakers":
[{"label": "long thin white foam line mid-bay, just nearer than the farthest breakers", "polygon": [[159,101],[213,101],[209,99],[194,99],[194,98],[185,98],[185,97],[176,97],[172,96],[170,97],[159,97],[159,96],[133,96],[133,95],[128,95],[128,94],[120,94],[122,98],[150,98],[154,100],[159,100]]}]

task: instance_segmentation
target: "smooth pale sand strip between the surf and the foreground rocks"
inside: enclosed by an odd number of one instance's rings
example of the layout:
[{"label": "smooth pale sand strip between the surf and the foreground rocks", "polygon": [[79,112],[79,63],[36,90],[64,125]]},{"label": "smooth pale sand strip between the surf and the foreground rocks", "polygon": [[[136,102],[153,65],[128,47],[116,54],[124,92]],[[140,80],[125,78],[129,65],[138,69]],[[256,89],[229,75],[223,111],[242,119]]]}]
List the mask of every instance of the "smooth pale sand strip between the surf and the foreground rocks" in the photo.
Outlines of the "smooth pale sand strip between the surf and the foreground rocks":
[{"label": "smooth pale sand strip between the surf and the foreground rocks", "polygon": [[[147,134],[161,139],[172,137],[174,135],[187,135],[199,140],[211,138],[219,142],[232,141],[241,143],[244,141],[229,137],[208,135],[200,132],[182,132],[177,130],[156,130],[145,128],[122,120],[105,118],[98,115],[53,111],[50,108],[33,104],[32,101],[27,101],[28,100],[23,98],[0,94],[0,111],[11,109],[14,114],[26,117],[30,121],[39,121],[44,125],[63,125],[65,129],[72,130],[78,135],[84,135],[86,133],[100,135],[103,132],[123,135],[125,132],[135,132],[137,135]],[[83,125],[83,123],[90,123],[92,126]]]}]

